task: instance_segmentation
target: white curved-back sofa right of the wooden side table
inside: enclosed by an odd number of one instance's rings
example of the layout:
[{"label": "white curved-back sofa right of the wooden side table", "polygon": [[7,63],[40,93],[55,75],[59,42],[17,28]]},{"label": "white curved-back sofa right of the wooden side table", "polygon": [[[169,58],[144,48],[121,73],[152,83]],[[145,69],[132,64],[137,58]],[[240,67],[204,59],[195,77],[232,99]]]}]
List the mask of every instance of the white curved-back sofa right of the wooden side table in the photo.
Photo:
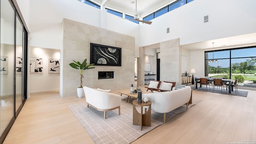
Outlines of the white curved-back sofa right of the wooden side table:
[{"label": "white curved-back sofa right of the wooden side table", "polygon": [[190,100],[191,88],[185,86],[178,90],[168,92],[157,92],[142,94],[142,98],[146,97],[152,102],[151,110],[155,112],[164,113],[164,123],[166,122],[166,112],[170,112],[183,104],[187,104]]}]

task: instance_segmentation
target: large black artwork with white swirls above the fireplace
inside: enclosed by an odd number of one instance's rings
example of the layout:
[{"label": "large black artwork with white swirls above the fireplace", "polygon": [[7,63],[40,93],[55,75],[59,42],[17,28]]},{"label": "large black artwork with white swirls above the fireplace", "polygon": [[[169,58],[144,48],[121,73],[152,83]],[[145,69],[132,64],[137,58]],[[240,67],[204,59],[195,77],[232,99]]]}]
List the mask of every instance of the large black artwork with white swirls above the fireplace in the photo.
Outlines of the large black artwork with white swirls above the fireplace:
[{"label": "large black artwork with white swirls above the fireplace", "polygon": [[121,66],[122,48],[90,43],[90,64]]}]

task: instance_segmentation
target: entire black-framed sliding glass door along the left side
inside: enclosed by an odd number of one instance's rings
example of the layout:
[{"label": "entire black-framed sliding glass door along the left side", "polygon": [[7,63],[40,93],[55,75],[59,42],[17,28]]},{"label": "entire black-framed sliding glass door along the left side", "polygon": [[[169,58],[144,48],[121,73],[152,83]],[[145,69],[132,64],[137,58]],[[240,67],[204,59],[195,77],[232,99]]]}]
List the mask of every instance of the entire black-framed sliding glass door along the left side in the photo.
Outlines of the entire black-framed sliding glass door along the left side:
[{"label": "entire black-framed sliding glass door along the left side", "polygon": [[0,1],[0,143],[26,100],[27,32],[11,0]]}]

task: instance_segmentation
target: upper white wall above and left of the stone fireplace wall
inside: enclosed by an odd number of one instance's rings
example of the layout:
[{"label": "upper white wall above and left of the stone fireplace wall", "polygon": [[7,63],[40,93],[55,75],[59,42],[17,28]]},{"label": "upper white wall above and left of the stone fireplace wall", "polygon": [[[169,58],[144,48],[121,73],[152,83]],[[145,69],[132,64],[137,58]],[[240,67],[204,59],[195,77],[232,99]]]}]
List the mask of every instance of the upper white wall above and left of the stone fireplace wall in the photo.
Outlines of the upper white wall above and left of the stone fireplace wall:
[{"label": "upper white wall above and left of the stone fireplace wall", "polygon": [[98,8],[77,0],[31,0],[29,45],[60,49],[63,18],[135,37],[136,56],[138,57],[140,42],[138,24],[120,19],[105,11],[102,12]]}]

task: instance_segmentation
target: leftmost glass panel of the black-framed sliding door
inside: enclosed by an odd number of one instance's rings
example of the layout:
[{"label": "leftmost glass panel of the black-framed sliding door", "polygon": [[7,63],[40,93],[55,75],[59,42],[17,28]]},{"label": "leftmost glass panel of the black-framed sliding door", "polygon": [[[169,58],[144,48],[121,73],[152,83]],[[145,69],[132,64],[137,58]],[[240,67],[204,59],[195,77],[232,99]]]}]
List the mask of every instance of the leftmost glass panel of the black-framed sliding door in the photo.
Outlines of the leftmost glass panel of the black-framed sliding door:
[{"label": "leftmost glass panel of the black-framed sliding door", "polygon": [[0,30],[0,136],[14,120],[14,26],[15,11],[1,0]]}]

